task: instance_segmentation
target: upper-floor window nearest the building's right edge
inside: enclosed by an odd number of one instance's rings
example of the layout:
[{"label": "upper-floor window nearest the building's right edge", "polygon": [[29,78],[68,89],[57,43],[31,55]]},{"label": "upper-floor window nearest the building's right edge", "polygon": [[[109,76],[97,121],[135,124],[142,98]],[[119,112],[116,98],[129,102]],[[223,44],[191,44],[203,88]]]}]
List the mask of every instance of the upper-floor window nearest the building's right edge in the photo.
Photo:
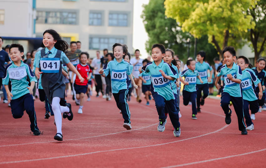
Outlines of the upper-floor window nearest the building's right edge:
[{"label": "upper-floor window nearest the building's right edge", "polygon": [[127,26],[127,13],[109,13],[109,26]]}]

